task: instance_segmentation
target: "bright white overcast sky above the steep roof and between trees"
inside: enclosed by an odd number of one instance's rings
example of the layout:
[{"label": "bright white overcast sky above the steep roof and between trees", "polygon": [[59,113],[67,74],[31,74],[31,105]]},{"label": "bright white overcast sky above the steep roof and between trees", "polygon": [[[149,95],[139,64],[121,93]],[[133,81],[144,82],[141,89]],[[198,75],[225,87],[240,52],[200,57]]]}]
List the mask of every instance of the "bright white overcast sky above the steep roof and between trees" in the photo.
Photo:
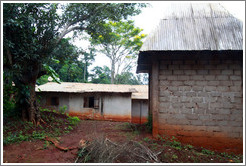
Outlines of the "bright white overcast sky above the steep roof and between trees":
[{"label": "bright white overcast sky above the steep roof and between trees", "polygon": [[[159,23],[159,20],[163,16],[165,9],[171,3],[189,3],[189,1],[144,1],[145,3],[149,3],[151,6],[142,9],[142,13],[138,16],[132,17],[135,21],[135,26],[143,29],[144,34],[151,33]],[[192,3],[202,3],[202,1],[192,1]],[[204,3],[207,3],[206,1]],[[245,20],[245,2],[244,1],[210,1],[210,3],[220,3],[224,8],[226,8],[231,14],[235,17],[239,18],[240,20]],[[82,48],[86,48],[88,42],[76,40],[74,42],[75,45]],[[93,64],[89,67],[91,70],[95,66],[110,66],[110,61],[105,55],[97,55]],[[136,68],[132,70],[135,72]]]}]

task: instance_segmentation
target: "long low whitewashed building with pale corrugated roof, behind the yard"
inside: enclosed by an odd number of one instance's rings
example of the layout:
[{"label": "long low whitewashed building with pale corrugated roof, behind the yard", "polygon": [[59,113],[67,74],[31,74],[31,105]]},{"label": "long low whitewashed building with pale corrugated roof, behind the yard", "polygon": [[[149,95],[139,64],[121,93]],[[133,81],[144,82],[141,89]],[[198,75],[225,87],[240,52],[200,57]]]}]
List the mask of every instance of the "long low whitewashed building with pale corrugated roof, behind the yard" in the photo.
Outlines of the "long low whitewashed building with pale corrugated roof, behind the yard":
[{"label": "long low whitewashed building with pale corrugated roof, behind the yard", "polygon": [[84,119],[144,123],[148,117],[147,85],[49,82],[36,87],[44,108],[67,107]]}]

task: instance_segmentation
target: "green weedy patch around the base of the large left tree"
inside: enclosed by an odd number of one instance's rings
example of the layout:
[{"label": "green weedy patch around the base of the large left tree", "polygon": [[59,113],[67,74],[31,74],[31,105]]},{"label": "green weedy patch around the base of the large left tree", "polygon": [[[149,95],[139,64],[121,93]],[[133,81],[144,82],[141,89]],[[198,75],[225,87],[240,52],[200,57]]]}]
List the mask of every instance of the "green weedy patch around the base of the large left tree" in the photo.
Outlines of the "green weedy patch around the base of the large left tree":
[{"label": "green weedy patch around the base of the large left tree", "polygon": [[78,117],[70,117],[61,113],[54,113],[49,109],[41,110],[41,118],[45,121],[39,126],[32,122],[24,122],[20,119],[8,121],[3,126],[3,143],[11,144],[15,142],[29,141],[33,139],[44,139],[48,137],[58,137],[63,133],[73,130],[80,120]]}]

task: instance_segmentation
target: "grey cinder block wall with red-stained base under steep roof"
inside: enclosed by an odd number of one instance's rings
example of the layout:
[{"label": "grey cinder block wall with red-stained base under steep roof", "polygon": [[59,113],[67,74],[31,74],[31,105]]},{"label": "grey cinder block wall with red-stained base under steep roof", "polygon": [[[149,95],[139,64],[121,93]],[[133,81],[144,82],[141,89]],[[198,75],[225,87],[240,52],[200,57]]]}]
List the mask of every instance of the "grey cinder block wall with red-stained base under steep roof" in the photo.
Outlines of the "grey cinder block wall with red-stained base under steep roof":
[{"label": "grey cinder block wall with red-stained base under steep roof", "polygon": [[242,71],[239,60],[160,61],[159,134],[242,153]]}]

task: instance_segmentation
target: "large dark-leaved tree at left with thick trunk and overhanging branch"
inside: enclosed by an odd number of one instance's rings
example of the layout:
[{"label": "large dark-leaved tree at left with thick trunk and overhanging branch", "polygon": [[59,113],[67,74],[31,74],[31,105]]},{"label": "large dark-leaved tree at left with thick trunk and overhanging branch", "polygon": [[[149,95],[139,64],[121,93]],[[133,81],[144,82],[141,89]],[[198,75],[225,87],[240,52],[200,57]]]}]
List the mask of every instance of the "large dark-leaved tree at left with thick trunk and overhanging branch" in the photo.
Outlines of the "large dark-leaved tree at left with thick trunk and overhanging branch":
[{"label": "large dark-leaved tree at left with thick trunk and overhanging branch", "polygon": [[23,120],[40,123],[35,84],[44,74],[53,70],[46,64],[55,59],[52,52],[70,32],[101,31],[106,20],[126,19],[140,12],[142,4],[76,3],[58,4],[4,3],[3,4],[3,55],[4,70],[18,88],[17,103]]}]

